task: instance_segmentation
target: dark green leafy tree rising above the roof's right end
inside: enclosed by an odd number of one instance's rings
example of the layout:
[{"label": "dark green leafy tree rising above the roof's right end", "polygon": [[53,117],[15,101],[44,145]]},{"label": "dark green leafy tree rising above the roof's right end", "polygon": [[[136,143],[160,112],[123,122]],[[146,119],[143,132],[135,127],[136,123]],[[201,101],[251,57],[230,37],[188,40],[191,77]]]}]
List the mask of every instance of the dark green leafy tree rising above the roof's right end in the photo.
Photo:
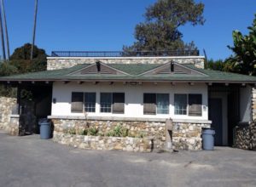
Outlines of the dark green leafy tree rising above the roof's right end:
[{"label": "dark green leafy tree rising above the roof's right end", "polygon": [[245,75],[256,76],[256,14],[253,26],[247,27],[248,35],[233,31],[234,47],[228,46],[234,55],[227,60],[225,71],[233,71]]}]

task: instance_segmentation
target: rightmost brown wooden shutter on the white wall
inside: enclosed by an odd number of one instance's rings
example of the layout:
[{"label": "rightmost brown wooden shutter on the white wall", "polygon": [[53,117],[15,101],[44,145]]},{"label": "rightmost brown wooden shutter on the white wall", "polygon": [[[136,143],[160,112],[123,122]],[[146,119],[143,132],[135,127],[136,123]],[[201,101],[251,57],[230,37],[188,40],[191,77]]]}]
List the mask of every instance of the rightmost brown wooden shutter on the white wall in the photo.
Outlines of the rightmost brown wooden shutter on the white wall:
[{"label": "rightmost brown wooden shutter on the white wall", "polygon": [[201,94],[189,94],[189,116],[201,116]]}]

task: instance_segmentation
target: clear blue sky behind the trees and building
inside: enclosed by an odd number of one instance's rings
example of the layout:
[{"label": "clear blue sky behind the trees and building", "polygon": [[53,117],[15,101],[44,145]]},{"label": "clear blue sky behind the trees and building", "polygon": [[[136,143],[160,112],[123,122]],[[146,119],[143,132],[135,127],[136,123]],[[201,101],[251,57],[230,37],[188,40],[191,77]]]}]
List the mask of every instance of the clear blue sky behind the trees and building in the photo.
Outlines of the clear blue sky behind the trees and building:
[{"label": "clear blue sky behind the trees and building", "polygon": [[[134,42],[134,27],[155,0],[38,0],[36,44],[53,50],[121,50]],[[254,0],[202,0],[204,26],[183,26],[185,42],[205,48],[208,58],[231,54],[232,31],[247,34],[256,14]],[[5,0],[11,53],[32,41],[34,0]]]}]

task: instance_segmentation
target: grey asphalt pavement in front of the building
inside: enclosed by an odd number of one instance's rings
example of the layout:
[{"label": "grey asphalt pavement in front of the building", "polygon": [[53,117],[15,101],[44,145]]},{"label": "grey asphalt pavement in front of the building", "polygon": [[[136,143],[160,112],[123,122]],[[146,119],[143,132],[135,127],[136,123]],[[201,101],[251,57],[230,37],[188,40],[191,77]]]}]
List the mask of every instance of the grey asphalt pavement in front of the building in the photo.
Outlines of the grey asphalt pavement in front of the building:
[{"label": "grey asphalt pavement in front of the building", "polygon": [[256,152],[229,147],[177,153],[79,150],[0,132],[0,186],[256,186]]}]

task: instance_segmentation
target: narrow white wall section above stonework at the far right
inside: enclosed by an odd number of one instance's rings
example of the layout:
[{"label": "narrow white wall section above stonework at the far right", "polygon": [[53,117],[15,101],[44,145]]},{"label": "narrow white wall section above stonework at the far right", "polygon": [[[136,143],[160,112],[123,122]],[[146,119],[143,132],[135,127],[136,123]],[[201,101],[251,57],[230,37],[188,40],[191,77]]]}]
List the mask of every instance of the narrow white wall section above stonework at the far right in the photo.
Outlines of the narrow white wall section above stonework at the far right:
[{"label": "narrow white wall section above stonework at the far right", "polygon": [[240,121],[252,121],[252,87],[240,88]]}]

